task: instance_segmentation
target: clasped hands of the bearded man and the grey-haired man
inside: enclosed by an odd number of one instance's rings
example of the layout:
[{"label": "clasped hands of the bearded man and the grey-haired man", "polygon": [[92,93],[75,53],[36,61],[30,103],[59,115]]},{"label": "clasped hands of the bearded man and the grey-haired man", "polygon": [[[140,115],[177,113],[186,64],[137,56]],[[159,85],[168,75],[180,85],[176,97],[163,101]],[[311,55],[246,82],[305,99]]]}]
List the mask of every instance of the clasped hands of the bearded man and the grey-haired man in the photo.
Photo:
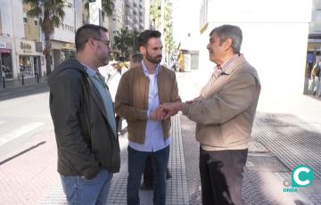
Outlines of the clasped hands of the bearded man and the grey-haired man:
[{"label": "clasped hands of the bearded man and the grey-haired man", "polygon": [[150,112],[149,119],[159,121],[169,119],[182,110],[182,102],[166,102]]}]

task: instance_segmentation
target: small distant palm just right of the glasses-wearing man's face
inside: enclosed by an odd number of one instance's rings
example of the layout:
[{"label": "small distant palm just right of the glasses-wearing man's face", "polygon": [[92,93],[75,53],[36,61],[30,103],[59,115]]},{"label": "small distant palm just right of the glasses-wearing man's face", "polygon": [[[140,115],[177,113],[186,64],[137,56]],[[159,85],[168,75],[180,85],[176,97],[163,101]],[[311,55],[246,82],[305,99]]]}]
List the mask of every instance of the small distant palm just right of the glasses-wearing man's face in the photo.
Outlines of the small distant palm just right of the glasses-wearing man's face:
[{"label": "small distant palm just right of the glasses-wearing man's face", "polygon": [[113,40],[114,46],[120,51],[121,59],[124,61],[125,52],[127,52],[128,48],[133,45],[131,33],[128,29],[120,29],[120,31],[117,30]]}]

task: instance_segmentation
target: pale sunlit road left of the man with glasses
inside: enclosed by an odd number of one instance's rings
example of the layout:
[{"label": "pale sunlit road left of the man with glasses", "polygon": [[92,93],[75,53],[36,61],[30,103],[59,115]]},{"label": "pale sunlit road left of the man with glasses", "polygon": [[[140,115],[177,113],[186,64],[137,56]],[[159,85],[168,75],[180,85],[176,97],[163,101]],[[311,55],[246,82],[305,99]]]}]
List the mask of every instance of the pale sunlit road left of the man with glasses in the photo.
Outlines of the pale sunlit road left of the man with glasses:
[{"label": "pale sunlit road left of the man with glasses", "polygon": [[[0,101],[0,157],[53,129],[46,91],[35,94],[34,90],[29,90],[24,96]],[[12,95],[17,94],[6,97]]]}]

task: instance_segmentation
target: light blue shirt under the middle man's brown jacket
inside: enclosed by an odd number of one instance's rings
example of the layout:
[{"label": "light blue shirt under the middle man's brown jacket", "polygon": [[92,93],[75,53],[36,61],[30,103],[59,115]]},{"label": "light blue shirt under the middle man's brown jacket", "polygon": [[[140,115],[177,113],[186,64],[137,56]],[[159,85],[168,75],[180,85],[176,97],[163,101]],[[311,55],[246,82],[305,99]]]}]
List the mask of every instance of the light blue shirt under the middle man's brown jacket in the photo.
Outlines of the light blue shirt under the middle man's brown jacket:
[{"label": "light blue shirt under the middle man's brown jacket", "polygon": [[[142,61],[144,75],[150,79],[148,91],[148,113],[152,113],[159,104],[160,98],[158,94],[157,75],[161,69],[160,64],[157,65],[154,74],[150,74]],[[161,121],[147,120],[144,144],[133,143],[129,141],[129,146],[140,152],[157,152],[169,146],[170,137],[165,139],[161,127]]]}]

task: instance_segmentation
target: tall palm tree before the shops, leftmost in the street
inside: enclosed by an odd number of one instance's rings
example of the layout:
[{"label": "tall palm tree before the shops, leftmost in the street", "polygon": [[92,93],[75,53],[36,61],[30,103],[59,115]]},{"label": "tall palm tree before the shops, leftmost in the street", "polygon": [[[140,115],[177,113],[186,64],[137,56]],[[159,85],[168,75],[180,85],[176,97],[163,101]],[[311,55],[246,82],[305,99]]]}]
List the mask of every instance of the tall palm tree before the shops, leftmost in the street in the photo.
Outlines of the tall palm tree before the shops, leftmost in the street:
[{"label": "tall palm tree before the shops, leftmost in the street", "polygon": [[27,15],[38,17],[41,29],[45,34],[45,62],[46,75],[51,73],[51,44],[50,36],[54,32],[54,27],[62,24],[65,12],[63,8],[66,6],[65,0],[22,0],[25,4],[30,4],[31,9]]}]

